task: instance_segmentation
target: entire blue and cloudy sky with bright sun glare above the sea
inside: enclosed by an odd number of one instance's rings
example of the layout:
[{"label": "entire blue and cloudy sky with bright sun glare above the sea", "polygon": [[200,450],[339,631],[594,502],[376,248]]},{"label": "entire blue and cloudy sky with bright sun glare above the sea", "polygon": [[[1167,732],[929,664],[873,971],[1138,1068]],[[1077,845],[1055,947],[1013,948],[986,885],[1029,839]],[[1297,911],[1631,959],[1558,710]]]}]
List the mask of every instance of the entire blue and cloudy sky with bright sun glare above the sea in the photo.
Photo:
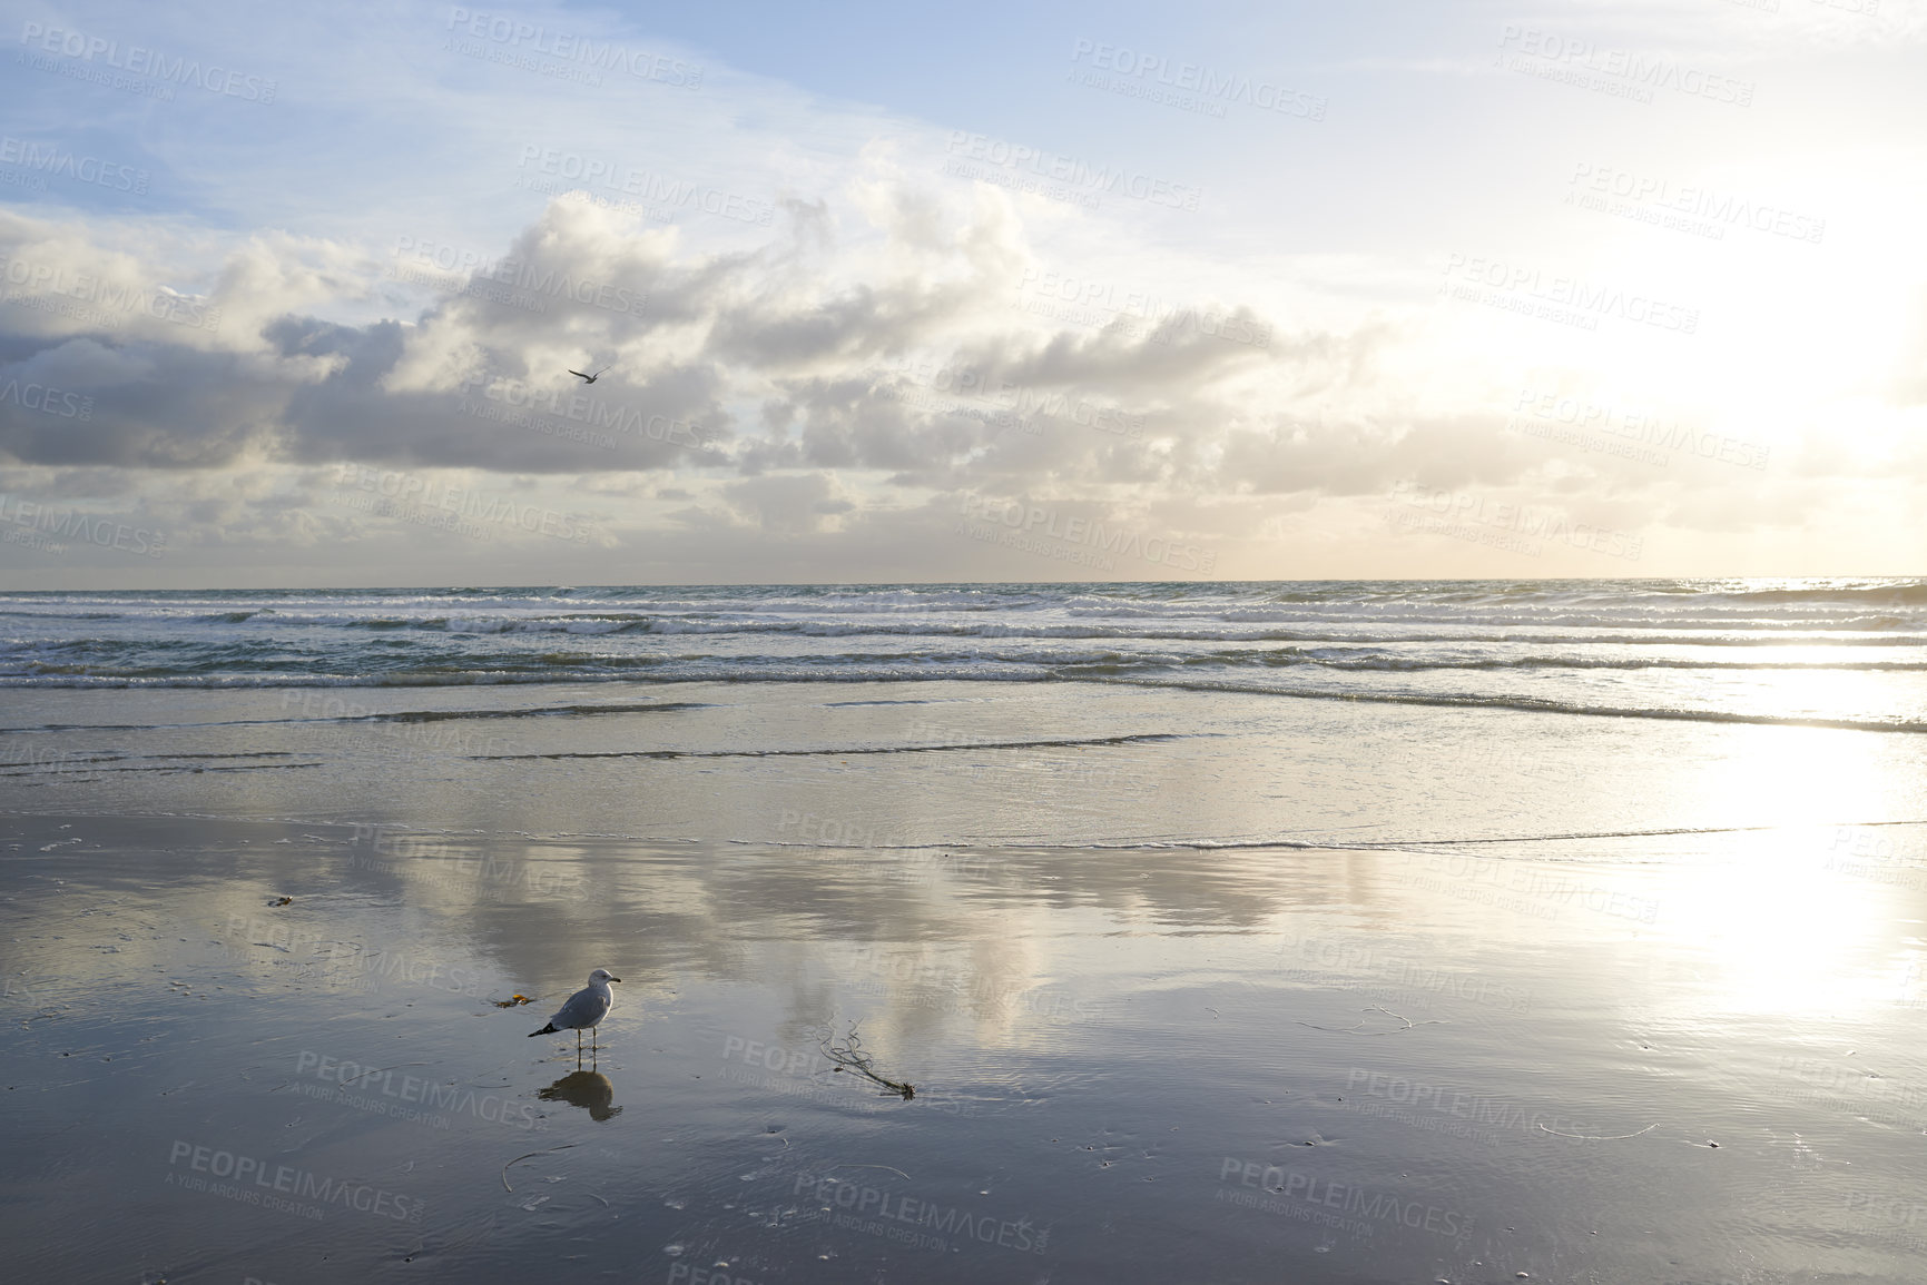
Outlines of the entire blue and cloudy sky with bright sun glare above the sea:
[{"label": "entire blue and cloudy sky with bright sun glare above the sea", "polygon": [[1927,0],[8,0],[0,60],[0,588],[1923,570]]}]

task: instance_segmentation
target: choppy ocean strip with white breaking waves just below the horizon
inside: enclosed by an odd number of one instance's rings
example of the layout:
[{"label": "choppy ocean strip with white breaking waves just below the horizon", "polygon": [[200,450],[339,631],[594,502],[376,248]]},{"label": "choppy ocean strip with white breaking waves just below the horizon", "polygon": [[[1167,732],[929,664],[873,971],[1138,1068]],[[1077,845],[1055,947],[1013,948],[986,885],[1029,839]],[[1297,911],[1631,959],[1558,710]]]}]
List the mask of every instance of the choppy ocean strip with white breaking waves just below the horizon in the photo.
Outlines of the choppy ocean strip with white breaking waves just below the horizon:
[{"label": "choppy ocean strip with white breaking waves just below the horizon", "polygon": [[0,595],[8,688],[1110,682],[1927,728],[1927,580]]}]

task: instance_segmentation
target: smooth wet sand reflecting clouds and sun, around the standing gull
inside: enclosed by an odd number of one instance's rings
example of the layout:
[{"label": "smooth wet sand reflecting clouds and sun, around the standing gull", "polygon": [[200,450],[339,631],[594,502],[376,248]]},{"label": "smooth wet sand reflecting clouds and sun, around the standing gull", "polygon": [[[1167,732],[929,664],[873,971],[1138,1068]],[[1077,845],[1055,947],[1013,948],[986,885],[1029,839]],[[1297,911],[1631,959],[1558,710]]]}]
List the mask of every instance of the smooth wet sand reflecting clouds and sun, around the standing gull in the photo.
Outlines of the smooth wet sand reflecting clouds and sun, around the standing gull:
[{"label": "smooth wet sand reflecting clouds and sun, around the standing gull", "polygon": [[1904,846],[449,830],[0,817],[17,1279],[1919,1275]]}]

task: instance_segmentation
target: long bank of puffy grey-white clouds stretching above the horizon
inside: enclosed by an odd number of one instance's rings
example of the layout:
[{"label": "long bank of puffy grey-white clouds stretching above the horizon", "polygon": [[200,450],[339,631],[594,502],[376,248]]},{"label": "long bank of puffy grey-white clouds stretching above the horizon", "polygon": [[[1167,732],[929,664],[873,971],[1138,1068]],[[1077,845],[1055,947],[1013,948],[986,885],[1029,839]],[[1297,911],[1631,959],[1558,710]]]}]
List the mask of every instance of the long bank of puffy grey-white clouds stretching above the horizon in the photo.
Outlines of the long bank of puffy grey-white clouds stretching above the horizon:
[{"label": "long bank of puffy grey-white clouds stretching above the horizon", "polygon": [[[1748,530],[1825,509],[1786,491],[1765,512],[1755,478],[1688,457],[1653,466],[1532,439],[1509,426],[1517,376],[1455,362],[1409,312],[1283,328],[1210,295],[1075,316],[1012,306],[1037,279],[1031,225],[1025,198],[933,191],[888,158],[840,200],[782,202],[753,245],[696,245],[557,197],[453,272],[407,239],[258,235],[208,260],[193,237],[4,216],[0,387],[60,387],[89,412],[0,399],[0,460],[62,487],[100,470],[210,549],[389,547],[382,514],[343,509],[326,484],[343,462],[530,485],[545,505],[595,505],[597,547],[667,541],[717,578],[777,545],[786,574],[834,578],[858,551],[892,578],[985,559],[1077,574],[960,539],[965,495],[1199,547],[1310,514],[1345,539],[1401,482],[1619,526],[1646,512]],[[143,254],[114,249],[133,241]],[[570,368],[607,370],[588,385]],[[1584,362],[1542,376],[1596,381]]]}]

